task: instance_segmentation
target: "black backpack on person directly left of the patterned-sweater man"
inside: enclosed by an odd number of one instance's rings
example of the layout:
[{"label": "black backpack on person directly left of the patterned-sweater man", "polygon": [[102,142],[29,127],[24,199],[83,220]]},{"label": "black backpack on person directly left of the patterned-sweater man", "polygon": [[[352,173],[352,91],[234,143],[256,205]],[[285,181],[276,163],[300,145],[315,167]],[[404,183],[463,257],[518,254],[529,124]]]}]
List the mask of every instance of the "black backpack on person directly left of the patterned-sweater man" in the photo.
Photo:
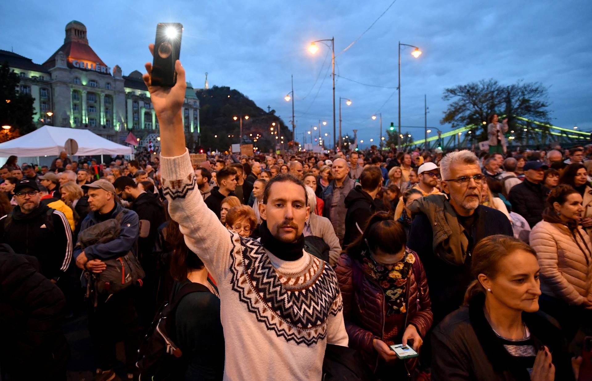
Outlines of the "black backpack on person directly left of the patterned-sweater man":
[{"label": "black backpack on person directly left of the patterned-sweater man", "polygon": [[186,283],[165,302],[156,313],[150,329],[140,344],[136,367],[139,380],[166,381],[184,379],[187,368],[183,353],[170,338],[175,331],[175,310],[186,295],[193,292],[210,292],[200,283]]}]

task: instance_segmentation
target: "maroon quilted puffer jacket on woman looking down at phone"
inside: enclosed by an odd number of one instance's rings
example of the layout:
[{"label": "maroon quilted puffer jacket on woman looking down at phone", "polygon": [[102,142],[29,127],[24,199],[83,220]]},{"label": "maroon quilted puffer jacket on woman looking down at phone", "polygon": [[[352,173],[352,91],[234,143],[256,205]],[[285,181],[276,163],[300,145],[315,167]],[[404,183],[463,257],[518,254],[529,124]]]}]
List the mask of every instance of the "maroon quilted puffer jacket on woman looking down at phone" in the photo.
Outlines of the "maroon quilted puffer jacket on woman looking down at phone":
[{"label": "maroon quilted puffer jacket on woman looking down at phone", "polygon": [[[419,256],[415,255],[407,285],[407,318],[405,327],[413,324],[423,338],[432,327],[433,315],[427,289],[426,273]],[[348,331],[349,346],[358,349],[372,369],[378,365],[378,354],[372,340],[382,340],[384,333],[384,291],[368,277],[362,264],[343,253],[335,268],[343,298],[343,319]],[[419,279],[416,279],[416,274]],[[417,363],[417,358],[406,361],[408,371]]]}]

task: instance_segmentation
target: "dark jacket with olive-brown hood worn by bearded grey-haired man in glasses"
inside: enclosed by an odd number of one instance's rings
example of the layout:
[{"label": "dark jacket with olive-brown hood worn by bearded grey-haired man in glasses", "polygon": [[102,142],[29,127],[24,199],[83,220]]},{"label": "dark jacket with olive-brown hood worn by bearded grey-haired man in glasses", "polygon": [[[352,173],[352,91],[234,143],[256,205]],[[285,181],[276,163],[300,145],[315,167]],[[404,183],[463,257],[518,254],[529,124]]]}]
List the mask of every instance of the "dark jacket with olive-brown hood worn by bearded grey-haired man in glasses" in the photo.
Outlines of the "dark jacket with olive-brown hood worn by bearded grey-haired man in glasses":
[{"label": "dark jacket with olive-brown hood worn by bearded grey-haired man in glasses", "polygon": [[414,218],[407,247],[422,260],[434,318],[440,321],[462,304],[466,288],[473,280],[471,252],[474,246],[490,235],[513,236],[512,227],[505,214],[479,205],[471,231],[466,231],[445,195],[417,199],[409,209]]}]

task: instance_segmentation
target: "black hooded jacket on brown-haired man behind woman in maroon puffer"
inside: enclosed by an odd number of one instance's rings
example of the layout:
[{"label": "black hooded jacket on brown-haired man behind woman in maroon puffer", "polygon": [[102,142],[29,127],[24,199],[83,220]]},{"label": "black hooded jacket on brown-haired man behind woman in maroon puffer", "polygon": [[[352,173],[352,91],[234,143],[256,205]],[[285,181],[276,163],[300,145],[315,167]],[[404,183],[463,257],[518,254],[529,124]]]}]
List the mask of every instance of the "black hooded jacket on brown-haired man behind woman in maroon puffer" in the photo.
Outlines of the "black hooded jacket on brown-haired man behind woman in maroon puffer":
[{"label": "black hooded jacket on brown-haired man behind woman in maroon puffer", "polygon": [[352,243],[362,235],[368,220],[376,212],[374,200],[359,186],[349,191],[345,198],[345,207],[348,211],[345,214],[343,246]]}]

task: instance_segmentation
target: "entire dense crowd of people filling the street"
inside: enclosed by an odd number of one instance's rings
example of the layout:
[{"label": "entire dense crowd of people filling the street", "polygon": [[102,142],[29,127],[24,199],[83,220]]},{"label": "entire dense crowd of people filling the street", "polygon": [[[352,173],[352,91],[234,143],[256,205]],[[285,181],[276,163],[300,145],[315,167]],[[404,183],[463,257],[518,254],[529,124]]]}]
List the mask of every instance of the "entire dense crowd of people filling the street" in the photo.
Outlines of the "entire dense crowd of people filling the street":
[{"label": "entire dense crowd of people filling the street", "polygon": [[117,377],[121,342],[118,376],[138,379],[140,338],[180,293],[173,379],[578,378],[592,335],[592,144],[512,150],[493,115],[489,151],[195,165],[176,70],[171,91],[144,75],[160,155],[0,168],[2,379],[65,379],[62,325],[76,314],[88,314],[95,379]]}]

